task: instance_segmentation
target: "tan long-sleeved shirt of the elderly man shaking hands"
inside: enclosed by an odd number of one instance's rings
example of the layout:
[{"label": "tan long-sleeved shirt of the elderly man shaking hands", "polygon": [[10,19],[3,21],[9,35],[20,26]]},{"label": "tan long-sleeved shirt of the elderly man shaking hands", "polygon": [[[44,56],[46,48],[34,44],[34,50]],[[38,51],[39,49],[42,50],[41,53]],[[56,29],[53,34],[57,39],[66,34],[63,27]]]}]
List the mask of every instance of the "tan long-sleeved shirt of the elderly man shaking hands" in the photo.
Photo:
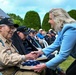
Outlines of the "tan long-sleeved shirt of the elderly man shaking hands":
[{"label": "tan long-sleeved shirt of the elderly man shaking hands", "polygon": [[0,34],[0,70],[2,71],[3,75],[7,75],[6,71],[14,71],[14,69],[11,67],[21,63],[23,58],[24,55],[18,54],[16,48],[12,45],[12,42],[6,40]]}]

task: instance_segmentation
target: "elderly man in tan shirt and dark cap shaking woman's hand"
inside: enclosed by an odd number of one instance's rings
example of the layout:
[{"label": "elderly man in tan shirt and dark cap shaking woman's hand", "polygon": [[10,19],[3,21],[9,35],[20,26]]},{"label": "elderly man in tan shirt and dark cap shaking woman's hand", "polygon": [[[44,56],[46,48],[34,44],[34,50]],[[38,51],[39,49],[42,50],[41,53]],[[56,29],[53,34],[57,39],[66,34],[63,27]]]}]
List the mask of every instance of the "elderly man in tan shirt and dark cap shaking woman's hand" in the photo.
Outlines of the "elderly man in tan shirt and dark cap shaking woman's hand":
[{"label": "elderly man in tan shirt and dark cap shaking woman's hand", "polygon": [[3,75],[12,75],[15,72],[13,66],[29,60],[35,59],[36,55],[29,53],[20,55],[18,50],[12,45],[11,37],[14,32],[14,24],[8,19],[0,20],[0,71]]}]

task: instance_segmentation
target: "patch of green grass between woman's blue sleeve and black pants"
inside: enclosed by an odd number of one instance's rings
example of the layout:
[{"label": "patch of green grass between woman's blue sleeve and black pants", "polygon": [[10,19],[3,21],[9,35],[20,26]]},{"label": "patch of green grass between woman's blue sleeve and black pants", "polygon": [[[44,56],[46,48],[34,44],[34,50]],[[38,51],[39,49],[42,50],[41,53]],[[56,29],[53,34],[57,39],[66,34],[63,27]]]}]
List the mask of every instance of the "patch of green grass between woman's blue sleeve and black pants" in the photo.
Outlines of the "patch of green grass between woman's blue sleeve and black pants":
[{"label": "patch of green grass between woman's blue sleeve and black pants", "polygon": [[65,60],[63,63],[61,63],[59,66],[61,69],[66,71],[66,69],[70,66],[70,64],[74,61],[72,57],[68,57],[67,60]]}]

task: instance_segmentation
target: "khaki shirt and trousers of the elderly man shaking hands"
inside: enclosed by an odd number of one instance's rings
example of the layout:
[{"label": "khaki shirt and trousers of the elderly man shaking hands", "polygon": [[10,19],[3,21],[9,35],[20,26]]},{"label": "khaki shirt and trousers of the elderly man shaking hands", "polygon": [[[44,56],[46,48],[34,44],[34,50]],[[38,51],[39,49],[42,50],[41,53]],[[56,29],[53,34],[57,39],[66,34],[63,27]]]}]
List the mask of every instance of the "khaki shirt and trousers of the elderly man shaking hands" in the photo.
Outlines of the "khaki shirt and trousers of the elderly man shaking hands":
[{"label": "khaki shirt and trousers of the elderly man shaking hands", "polygon": [[15,65],[25,60],[24,55],[18,54],[17,49],[12,45],[11,41],[6,40],[0,34],[0,71],[3,75],[40,75],[34,71],[17,71]]}]

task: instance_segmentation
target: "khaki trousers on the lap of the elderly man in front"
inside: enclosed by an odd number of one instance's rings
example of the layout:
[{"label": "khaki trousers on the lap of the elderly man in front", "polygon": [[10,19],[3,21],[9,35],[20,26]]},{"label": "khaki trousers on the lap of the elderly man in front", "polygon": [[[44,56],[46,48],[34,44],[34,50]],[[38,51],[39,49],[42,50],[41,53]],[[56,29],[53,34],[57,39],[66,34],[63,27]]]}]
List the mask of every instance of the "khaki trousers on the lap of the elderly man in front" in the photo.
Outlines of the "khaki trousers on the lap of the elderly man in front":
[{"label": "khaki trousers on the lap of the elderly man in front", "polygon": [[45,72],[42,71],[41,73],[36,73],[34,71],[22,71],[22,70],[19,70],[17,71],[16,73],[15,72],[15,68],[11,68],[9,70],[5,70],[5,71],[2,71],[2,75],[45,75]]}]

